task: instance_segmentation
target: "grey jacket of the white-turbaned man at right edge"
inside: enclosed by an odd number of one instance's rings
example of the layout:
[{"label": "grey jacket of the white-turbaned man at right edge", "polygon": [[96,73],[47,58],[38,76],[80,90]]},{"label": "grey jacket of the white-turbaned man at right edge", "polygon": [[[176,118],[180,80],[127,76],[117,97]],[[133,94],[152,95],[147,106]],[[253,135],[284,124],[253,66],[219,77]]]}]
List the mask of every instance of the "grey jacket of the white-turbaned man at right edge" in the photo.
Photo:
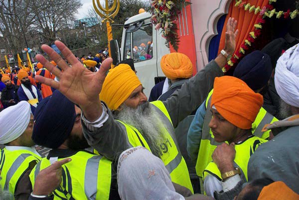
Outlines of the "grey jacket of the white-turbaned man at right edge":
[{"label": "grey jacket of the white-turbaned man at right edge", "polygon": [[299,193],[299,126],[279,133],[259,146],[248,163],[248,180],[283,181]]}]

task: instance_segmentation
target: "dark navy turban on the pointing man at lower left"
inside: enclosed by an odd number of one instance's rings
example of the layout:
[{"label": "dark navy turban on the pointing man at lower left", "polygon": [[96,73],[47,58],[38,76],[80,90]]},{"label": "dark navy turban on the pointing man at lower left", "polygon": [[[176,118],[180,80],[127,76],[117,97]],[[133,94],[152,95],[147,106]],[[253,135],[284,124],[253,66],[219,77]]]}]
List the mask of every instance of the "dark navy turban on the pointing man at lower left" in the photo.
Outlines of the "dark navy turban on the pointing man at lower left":
[{"label": "dark navy turban on the pointing man at lower left", "polygon": [[55,90],[35,109],[32,140],[35,144],[56,149],[70,135],[75,119],[75,104]]}]

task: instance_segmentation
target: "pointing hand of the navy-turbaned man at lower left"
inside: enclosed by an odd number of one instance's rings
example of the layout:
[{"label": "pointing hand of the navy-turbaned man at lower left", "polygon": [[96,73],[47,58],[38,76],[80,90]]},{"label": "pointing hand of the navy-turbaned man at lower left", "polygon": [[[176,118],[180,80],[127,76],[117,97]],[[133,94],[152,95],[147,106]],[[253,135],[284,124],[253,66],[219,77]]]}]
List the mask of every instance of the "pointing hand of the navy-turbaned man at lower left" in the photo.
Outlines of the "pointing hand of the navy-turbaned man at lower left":
[{"label": "pointing hand of the navy-turbaned man at lower left", "polygon": [[41,170],[34,183],[33,195],[50,195],[60,184],[62,165],[70,162],[71,158],[56,161],[49,167]]}]

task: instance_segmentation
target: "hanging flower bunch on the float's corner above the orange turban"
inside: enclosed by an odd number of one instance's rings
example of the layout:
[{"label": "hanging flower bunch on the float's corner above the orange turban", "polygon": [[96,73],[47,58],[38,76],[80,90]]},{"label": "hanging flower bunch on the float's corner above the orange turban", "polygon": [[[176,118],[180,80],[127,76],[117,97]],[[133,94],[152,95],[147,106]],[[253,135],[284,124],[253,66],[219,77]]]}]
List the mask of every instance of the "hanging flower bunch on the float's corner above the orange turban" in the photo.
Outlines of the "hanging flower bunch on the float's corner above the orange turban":
[{"label": "hanging flower bunch on the float's corner above the orange turban", "polygon": [[165,45],[169,48],[169,43],[175,51],[178,49],[179,37],[177,34],[177,18],[182,6],[187,4],[185,0],[152,0],[151,2],[151,22],[155,29],[162,29],[162,37],[166,39]]}]

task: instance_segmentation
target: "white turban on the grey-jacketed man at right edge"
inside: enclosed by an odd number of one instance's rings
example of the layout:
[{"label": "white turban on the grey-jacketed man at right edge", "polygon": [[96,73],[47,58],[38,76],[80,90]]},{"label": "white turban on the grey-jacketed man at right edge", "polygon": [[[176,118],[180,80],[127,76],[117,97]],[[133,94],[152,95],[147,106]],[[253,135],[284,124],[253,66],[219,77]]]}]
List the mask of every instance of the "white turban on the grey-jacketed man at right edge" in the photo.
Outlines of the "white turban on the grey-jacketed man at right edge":
[{"label": "white turban on the grey-jacketed man at right edge", "polygon": [[275,88],[282,100],[299,107],[299,45],[288,49],[277,61]]}]

